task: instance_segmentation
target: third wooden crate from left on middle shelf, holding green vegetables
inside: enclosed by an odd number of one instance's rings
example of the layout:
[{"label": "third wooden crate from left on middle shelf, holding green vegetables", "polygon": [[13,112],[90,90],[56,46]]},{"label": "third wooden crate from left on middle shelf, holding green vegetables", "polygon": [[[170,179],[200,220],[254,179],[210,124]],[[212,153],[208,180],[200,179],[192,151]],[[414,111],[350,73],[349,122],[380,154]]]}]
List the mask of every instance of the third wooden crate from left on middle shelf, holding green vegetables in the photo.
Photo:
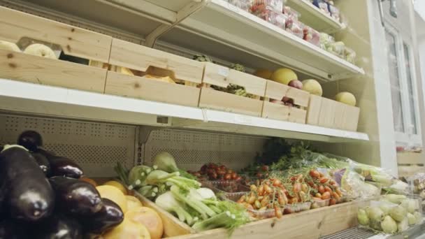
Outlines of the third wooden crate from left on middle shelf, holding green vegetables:
[{"label": "third wooden crate from left on middle shelf, holding green vegetables", "polygon": [[[206,62],[202,83],[199,97],[200,108],[261,116],[263,107],[261,97],[266,90],[266,80]],[[211,85],[227,87],[229,84],[244,87],[247,94],[252,94],[253,98],[221,92],[211,87]]]}]

